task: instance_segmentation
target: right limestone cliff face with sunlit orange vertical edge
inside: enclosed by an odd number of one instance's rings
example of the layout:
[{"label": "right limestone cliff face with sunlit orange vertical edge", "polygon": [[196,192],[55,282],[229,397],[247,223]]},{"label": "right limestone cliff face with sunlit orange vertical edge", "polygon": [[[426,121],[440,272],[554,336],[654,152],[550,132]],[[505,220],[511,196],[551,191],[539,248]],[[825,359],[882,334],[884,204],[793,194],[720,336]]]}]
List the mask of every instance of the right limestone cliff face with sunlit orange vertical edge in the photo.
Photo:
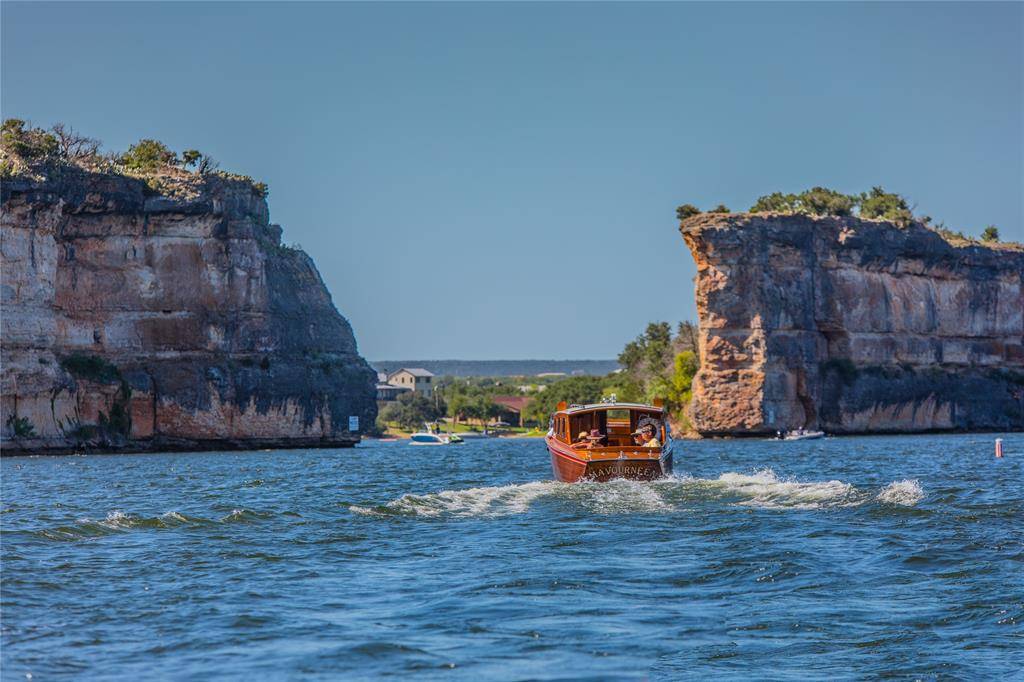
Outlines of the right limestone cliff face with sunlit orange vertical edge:
[{"label": "right limestone cliff face with sunlit orange vertical edge", "polygon": [[701,214],[705,435],[1024,428],[1024,250],[911,224]]}]

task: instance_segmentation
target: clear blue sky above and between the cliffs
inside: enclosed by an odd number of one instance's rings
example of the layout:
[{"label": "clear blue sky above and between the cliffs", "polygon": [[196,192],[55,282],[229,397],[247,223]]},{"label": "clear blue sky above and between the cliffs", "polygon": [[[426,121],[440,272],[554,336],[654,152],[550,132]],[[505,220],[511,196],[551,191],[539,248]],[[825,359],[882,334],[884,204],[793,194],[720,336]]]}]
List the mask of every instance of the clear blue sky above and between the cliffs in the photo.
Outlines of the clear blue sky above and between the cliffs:
[{"label": "clear blue sky above and between the cliffs", "polygon": [[[2,4],[3,116],[270,185],[360,350],[612,357],[675,207],[872,184],[1024,239],[1024,5]],[[571,267],[566,267],[571,264]]]}]

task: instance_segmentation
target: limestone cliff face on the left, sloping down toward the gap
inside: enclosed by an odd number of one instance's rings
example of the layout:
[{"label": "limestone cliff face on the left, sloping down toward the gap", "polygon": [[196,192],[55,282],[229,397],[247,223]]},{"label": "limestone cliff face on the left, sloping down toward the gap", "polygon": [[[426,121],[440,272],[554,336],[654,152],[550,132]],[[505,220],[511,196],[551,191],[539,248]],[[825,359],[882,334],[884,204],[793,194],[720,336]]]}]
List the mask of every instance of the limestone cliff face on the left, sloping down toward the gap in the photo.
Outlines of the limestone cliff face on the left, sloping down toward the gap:
[{"label": "limestone cliff face on the left, sloping down toward the gap", "polygon": [[375,374],[245,181],[2,188],[4,454],[350,445]]}]

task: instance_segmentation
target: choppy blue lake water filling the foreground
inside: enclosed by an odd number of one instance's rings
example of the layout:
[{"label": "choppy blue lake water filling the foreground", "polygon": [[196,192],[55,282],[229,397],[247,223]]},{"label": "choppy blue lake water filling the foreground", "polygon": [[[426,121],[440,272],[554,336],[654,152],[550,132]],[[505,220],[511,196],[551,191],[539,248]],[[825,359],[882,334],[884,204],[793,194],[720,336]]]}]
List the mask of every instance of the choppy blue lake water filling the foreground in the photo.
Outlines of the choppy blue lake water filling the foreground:
[{"label": "choppy blue lake water filling the foreground", "polygon": [[1024,435],[15,458],[2,677],[1022,679]]}]

